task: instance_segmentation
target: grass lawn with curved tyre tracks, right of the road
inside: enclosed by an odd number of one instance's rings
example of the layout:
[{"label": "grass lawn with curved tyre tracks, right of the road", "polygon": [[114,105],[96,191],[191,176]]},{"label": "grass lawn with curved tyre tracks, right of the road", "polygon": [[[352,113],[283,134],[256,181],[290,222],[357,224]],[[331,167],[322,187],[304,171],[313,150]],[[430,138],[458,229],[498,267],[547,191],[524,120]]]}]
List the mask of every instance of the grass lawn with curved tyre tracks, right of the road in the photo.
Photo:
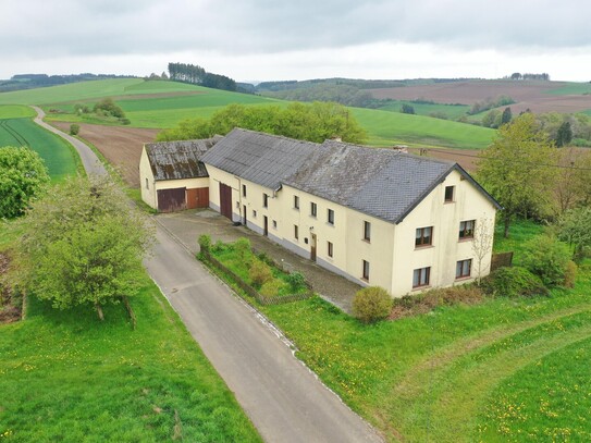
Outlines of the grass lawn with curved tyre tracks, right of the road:
[{"label": "grass lawn with curved tyre tracks, right of the road", "polygon": [[[515,237],[535,232],[529,223],[514,227]],[[261,309],[390,441],[527,441],[528,433],[552,441],[547,435],[567,421],[558,435],[588,441],[590,266],[575,290],[551,297],[500,297],[374,325],[320,298]],[[569,355],[578,359],[563,362]],[[516,398],[527,407],[526,421],[510,419]]]}]

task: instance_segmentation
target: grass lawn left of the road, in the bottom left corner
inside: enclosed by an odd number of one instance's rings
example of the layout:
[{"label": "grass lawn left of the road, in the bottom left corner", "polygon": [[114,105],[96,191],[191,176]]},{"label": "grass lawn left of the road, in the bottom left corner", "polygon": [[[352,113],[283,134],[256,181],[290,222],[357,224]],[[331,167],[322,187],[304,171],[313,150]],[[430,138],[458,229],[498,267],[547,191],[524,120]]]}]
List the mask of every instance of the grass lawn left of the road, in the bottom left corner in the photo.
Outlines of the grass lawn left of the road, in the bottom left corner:
[{"label": "grass lawn left of the road, in the bottom left corner", "polygon": [[[14,239],[1,225],[0,247]],[[160,291],[144,278],[100,322],[29,298],[0,325],[0,435],[14,442],[258,442],[233,394]],[[0,439],[3,440],[3,439]]]}]

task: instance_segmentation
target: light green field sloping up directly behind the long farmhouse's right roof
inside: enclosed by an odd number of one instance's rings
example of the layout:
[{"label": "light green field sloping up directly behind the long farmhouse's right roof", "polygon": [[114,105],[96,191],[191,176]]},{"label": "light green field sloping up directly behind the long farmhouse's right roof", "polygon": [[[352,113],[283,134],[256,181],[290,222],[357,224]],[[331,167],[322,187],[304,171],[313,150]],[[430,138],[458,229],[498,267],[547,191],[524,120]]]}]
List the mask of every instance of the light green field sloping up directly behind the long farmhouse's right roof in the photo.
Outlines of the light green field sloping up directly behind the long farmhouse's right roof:
[{"label": "light green field sloping up directly behind the long farmhouse's right roof", "polygon": [[369,134],[369,144],[389,146],[395,143],[419,146],[443,146],[458,149],[482,149],[496,134],[494,130],[422,115],[353,108],[353,114]]}]

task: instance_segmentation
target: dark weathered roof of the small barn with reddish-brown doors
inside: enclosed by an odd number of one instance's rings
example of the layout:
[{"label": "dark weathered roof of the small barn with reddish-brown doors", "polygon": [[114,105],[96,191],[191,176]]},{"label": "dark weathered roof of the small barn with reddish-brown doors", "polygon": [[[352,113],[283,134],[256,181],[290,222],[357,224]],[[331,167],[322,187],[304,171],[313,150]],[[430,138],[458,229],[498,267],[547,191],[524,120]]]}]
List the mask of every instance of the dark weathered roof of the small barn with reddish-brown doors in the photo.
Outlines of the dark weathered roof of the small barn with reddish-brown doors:
[{"label": "dark weathered roof of the small barn with reddish-brown doors", "polygon": [[221,138],[146,144],[155,181],[209,176],[201,156]]}]

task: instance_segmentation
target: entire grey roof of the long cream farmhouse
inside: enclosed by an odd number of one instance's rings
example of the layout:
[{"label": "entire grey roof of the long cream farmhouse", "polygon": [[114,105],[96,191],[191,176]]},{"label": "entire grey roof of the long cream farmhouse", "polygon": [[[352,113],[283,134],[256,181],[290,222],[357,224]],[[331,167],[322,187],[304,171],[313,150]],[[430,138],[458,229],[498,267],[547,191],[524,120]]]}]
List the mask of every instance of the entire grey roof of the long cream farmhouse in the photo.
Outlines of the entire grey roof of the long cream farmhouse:
[{"label": "entire grey roof of the long cream farmhouse", "polygon": [[202,161],[271,189],[283,184],[360,212],[401,222],[457,163],[334,140],[322,145],[233,130]]}]

